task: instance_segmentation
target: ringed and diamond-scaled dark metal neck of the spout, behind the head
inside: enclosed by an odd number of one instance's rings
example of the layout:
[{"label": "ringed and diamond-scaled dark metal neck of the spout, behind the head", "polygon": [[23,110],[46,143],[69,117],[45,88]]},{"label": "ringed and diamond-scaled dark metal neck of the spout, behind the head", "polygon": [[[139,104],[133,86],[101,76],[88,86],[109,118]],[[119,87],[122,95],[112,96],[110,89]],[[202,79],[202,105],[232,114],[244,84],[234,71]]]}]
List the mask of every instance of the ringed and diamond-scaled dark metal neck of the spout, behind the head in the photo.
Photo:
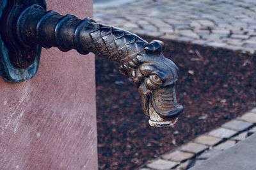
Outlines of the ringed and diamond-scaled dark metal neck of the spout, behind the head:
[{"label": "ringed and diamond-scaled dark metal neck of the spout, behind the head", "polygon": [[62,51],[76,49],[81,54],[93,52],[114,61],[134,58],[148,44],[139,36],[116,27],[97,24],[94,20],[60,15],[38,6],[29,6],[17,22],[17,34],[22,45],[39,43],[45,48]]}]

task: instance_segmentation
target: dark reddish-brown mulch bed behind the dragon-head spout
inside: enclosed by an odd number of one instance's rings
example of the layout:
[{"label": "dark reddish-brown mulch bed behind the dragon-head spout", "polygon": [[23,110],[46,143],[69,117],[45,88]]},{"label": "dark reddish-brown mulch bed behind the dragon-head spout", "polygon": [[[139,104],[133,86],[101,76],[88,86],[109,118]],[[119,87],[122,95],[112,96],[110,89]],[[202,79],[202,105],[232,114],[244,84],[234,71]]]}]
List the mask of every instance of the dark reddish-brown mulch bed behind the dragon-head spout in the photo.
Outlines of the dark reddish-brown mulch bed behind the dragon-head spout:
[{"label": "dark reddish-brown mulch bed behind the dragon-head spout", "polygon": [[96,59],[99,169],[136,169],[256,105],[255,56],[164,43],[164,55],[180,68],[176,88],[184,113],[175,128],[150,127],[136,87],[117,64]]}]

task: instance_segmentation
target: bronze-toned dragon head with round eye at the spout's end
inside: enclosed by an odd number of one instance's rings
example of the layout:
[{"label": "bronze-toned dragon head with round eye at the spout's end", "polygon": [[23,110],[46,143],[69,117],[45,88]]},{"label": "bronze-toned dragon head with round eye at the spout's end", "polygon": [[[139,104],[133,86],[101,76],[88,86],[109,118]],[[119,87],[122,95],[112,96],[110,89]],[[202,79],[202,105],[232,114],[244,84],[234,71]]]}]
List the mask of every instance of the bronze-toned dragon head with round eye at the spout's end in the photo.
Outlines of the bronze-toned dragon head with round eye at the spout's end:
[{"label": "bronze-toned dragon head with round eye at the spout's end", "polygon": [[120,66],[120,72],[128,74],[138,86],[143,112],[150,116],[150,125],[156,127],[173,125],[183,110],[175,94],[179,68],[163,56],[163,49],[164,43],[154,40]]}]

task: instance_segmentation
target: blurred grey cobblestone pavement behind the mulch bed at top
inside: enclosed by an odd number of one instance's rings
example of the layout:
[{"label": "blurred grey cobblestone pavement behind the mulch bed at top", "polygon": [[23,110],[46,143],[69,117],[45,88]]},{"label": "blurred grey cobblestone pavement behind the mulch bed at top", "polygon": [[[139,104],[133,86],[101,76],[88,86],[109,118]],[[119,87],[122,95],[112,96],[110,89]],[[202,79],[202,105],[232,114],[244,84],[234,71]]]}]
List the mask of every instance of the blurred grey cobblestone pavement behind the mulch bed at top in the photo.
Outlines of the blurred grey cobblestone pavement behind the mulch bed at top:
[{"label": "blurred grey cobblestone pavement behind the mulch bed at top", "polygon": [[255,0],[144,0],[95,8],[94,19],[138,35],[254,53]]}]

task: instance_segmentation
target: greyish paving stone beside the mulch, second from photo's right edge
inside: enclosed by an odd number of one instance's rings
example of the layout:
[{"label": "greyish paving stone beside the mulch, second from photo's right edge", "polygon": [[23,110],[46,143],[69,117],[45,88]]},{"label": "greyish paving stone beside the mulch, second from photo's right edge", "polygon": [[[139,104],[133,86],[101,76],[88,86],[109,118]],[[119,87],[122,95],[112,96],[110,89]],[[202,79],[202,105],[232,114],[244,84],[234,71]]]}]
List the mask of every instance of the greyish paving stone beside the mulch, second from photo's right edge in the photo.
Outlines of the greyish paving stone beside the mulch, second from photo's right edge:
[{"label": "greyish paving stone beside the mulch, second from photo's right edge", "polygon": [[249,123],[246,121],[241,120],[232,120],[228,121],[222,127],[229,128],[231,130],[236,130],[238,132],[245,130],[246,128],[250,128],[253,125],[253,123]]}]

